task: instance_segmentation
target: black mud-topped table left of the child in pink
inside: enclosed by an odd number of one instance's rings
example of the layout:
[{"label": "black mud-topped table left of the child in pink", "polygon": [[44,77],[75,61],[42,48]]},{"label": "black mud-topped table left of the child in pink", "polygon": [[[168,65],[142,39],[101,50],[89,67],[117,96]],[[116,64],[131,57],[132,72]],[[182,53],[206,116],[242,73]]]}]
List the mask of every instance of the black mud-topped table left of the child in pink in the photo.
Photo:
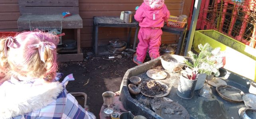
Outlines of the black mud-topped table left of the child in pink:
[{"label": "black mud-topped table left of the child in pink", "polygon": [[[139,23],[133,19],[132,23],[124,23],[120,17],[93,17],[93,38],[94,38],[94,52],[98,54],[98,27],[127,27],[129,28],[127,46],[130,46],[131,29],[136,28],[134,36],[134,44],[136,44],[138,37]],[[133,45],[133,49],[135,50]]]}]

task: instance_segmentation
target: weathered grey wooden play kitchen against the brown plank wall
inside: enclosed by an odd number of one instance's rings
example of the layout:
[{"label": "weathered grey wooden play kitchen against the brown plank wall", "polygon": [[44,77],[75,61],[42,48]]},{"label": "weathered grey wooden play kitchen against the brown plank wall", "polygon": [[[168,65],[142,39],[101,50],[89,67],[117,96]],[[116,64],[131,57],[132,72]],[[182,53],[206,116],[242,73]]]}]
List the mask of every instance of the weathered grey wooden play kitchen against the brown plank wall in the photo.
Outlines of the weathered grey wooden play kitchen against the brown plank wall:
[{"label": "weathered grey wooden play kitchen against the brown plank wall", "polygon": [[[80,48],[80,29],[83,28],[83,20],[79,15],[78,0],[19,0],[20,14],[18,29],[50,32],[62,29],[74,29],[76,46],[59,50],[58,61],[83,61],[83,53]],[[63,17],[63,12],[71,13]],[[61,37],[60,37],[61,39]],[[59,43],[62,45],[64,40]]]}]

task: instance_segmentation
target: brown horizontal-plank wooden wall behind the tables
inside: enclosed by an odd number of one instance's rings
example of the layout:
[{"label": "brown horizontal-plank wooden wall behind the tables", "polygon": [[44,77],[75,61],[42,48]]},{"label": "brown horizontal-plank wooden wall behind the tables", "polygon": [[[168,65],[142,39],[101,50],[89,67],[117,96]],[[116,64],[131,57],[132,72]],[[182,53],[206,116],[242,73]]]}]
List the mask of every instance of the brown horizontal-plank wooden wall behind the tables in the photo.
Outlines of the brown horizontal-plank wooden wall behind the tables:
[{"label": "brown horizontal-plank wooden wall behind the tables", "polygon": [[[83,19],[81,47],[92,46],[93,16],[120,16],[122,11],[135,13],[135,7],[140,6],[142,2],[143,0],[79,0],[79,14]],[[189,16],[191,0],[165,0],[165,4],[171,15]],[[19,16],[18,0],[0,0],[0,31],[18,31]],[[73,33],[72,30],[64,31],[67,35]],[[132,39],[134,33],[135,29],[132,29]],[[128,28],[99,27],[99,45],[106,45],[113,38],[126,41],[127,35]],[[178,38],[179,35],[163,33],[162,43],[177,43]]]}]

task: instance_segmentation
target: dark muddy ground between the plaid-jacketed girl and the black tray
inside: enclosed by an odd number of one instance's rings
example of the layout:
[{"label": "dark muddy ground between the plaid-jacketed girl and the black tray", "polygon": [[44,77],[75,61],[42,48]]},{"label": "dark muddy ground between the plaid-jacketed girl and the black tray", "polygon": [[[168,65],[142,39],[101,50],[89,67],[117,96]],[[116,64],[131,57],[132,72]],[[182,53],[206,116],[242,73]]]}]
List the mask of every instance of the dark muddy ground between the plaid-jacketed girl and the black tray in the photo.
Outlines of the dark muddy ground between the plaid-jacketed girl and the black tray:
[{"label": "dark muddy ground between the plaid-jacketed girl and the black tray", "polygon": [[[92,49],[84,49],[85,54],[90,54]],[[85,56],[84,61],[59,63],[59,72],[66,75],[73,73],[75,81],[69,81],[69,92],[85,92],[87,94],[87,106],[89,111],[99,119],[100,108],[103,104],[102,93],[106,91],[116,92],[127,69],[135,67],[132,57],[122,55],[122,58],[108,59],[106,55]],[[63,77],[63,78],[64,78]],[[62,78],[62,79],[63,79]]]}]

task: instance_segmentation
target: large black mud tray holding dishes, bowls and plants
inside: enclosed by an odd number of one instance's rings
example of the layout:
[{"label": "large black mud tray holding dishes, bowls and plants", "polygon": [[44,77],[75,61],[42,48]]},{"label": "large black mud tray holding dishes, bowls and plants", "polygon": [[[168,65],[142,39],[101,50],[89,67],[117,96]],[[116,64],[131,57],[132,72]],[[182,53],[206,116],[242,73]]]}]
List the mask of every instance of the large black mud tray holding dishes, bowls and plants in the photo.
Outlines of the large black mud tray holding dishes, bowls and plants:
[{"label": "large black mud tray holding dishes, bowls and plants", "polygon": [[[143,115],[147,119],[163,119],[157,115],[153,109],[146,103],[141,103],[141,100],[149,100],[151,103],[152,98],[143,96],[141,93],[137,96],[130,95],[128,92],[129,77],[139,76],[142,81],[148,79],[146,71],[154,67],[161,67],[160,58],[148,61],[142,65],[136,66],[132,69],[128,69],[124,75],[121,84],[121,101],[125,109],[132,111],[135,115]],[[221,98],[215,88],[211,87],[213,91],[213,98],[203,98],[199,96],[199,90],[195,91],[195,95],[191,99],[180,98],[177,94],[177,85],[179,83],[179,78],[173,78],[170,76],[177,75],[172,74],[168,71],[167,73],[167,83],[171,83],[171,91],[166,98],[170,98],[174,102],[182,105],[187,109],[190,115],[190,119],[240,119],[238,115],[238,109],[245,107],[243,102],[234,103],[229,102]],[[247,85],[248,79],[235,75],[233,73],[227,72],[225,75],[226,80],[224,80],[228,85],[234,86],[244,93],[248,93],[249,85]],[[146,101],[147,102],[147,101]]]}]

